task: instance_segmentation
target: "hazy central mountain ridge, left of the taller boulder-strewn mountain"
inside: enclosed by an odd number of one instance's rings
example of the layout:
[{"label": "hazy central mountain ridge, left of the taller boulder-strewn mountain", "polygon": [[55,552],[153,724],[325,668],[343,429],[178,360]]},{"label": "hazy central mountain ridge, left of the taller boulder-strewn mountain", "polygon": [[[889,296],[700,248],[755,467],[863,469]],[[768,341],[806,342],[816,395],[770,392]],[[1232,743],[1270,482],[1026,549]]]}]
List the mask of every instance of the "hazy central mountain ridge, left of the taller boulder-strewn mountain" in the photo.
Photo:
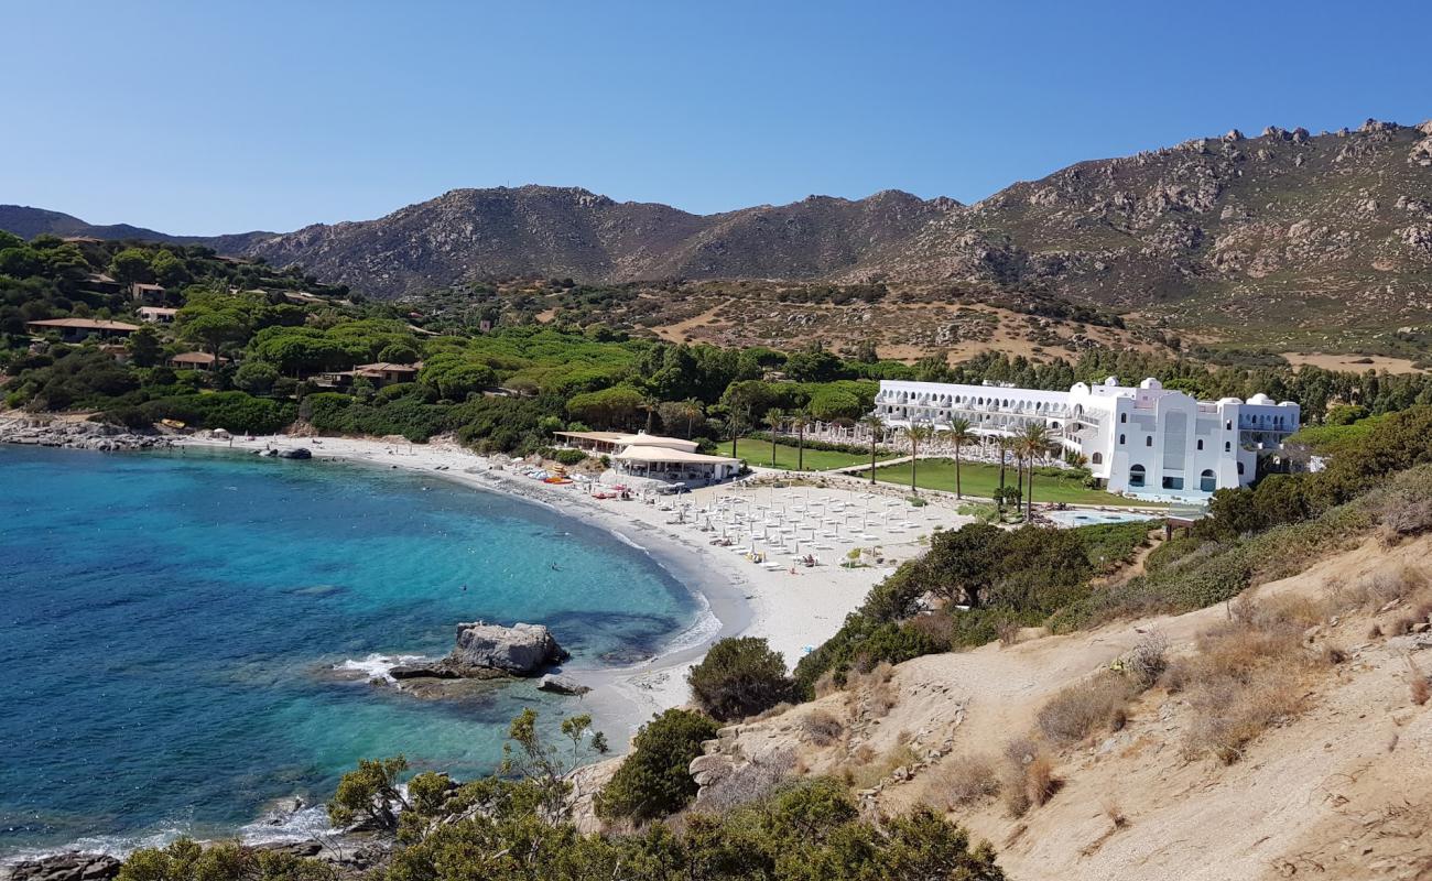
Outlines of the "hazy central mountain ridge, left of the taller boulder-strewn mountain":
[{"label": "hazy central mountain ridge, left of the taller boulder-strewn mountain", "polygon": [[504,275],[819,278],[878,258],[954,208],[888,191],[702,216],[576,188],[455,189],[377,221],[306,226],[249,252],[381,297]]}]

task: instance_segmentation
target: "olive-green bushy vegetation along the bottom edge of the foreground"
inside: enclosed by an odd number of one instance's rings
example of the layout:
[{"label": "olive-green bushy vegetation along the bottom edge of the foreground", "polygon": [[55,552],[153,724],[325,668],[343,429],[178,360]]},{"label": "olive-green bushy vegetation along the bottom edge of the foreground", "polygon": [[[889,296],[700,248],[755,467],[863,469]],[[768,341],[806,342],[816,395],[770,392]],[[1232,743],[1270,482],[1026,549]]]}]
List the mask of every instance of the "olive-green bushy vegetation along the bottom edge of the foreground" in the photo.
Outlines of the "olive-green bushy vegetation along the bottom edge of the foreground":
[{"label": "olive-green bushy vegetation along the bottom edge of the foreground", "polygon": [[[680,712],[666,713],[662,719],[669,723],[660,728],[649,725],[643,732],[647,741],[639,738],[632,756],[663,778],[674,774],[659,765],[676,756],[654,741],[670,736],[686,743],[700,731],[692,713],[673,715]],[[573,751],[589,741],[587,722],[584,716],[564,722]],[[398,829],[397,849],[387,865],[369,874],[372,881],[1004,878],[988,845],[971,847],[962,829],[934,812],[918,809],[871,824],[861,819],[843,784],[822,778],[755,794],[722,814],[693,811],[679,825],[654,821],[630,834],[584,835],[571,824],[571,784],[558,774],[569,766],[569,756],[541,741],[530,711],[513,722],[510,733],[510,761],[497,776],[457,784],[428,772],[402,788],[405,764],[390,759],[364,762],[344,778],[329,805],[335,821],[354,819],[357,809]],[[576,759],[576,752],[570,758]],[[142,848],[120,872],[122,881],[334,877],[319,861],[236,844],[200,848],[188,839]]]}]

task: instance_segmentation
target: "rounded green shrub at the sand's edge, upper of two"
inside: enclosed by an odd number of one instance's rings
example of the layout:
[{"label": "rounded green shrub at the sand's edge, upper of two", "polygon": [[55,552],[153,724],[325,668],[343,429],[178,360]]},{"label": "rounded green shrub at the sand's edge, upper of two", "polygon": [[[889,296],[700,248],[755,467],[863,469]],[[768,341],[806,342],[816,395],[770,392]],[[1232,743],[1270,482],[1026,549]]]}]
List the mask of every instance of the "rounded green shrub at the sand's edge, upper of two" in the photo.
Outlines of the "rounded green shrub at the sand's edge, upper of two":
[{"label": "rounded green shrub at the sand's edge, upper of two", "polygon": [[722,722],[765,712],[792,688],[785,659],[756,636],[719,640],[686,680],[697,706]]}]

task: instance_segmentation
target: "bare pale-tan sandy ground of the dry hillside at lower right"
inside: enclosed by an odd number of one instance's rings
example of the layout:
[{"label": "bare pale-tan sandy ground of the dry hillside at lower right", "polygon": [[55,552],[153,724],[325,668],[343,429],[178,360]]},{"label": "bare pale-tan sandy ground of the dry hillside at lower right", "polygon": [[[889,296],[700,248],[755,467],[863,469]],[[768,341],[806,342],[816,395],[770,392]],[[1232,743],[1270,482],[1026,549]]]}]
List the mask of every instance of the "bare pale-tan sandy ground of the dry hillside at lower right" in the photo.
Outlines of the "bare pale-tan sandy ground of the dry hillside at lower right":
[{"label": "bare pale-tan sandy ground of the dry hillside at lower right", "polygon": [[[1393,550],[1375,541],[1323,560],[1306,573],[1264,584],[1259,594],[1323,594],[1380,569],[1423,566],[1432,539]],[[829,695],[780,716],[743,725],[725,749],[759,759],[799,748],[813,772],[851,766],[869,746],[876,755],[914,738],[918,751],[947,756],[909,782],[886,782],[882,811],[944,802],[942,765],[965,754],[998,755],[1034,723],[1063,688],[1133,647],[1157,627],[1173,653],[1226,616],[1211,607],[1177,617],[1107,626],[911,660],[895,668],[895,705],[858,722],[858,742],[816,748],[802,719],[832,712],[849,721],[869,698]],[[1366,615],[1343,617],[1326,639],[1346,649],[1306,696],[1296,719],[1253,741],[1243,761],[1223,766],[1190,761],[1183,736],[1190,711],[1181,696],[1147,692],[1127,726],[1057,758],[1063,788],[1021,819],[987,807],[952,819],[990,839],[1015,880],[1432,878],[1432,706],[1412,705],[1403,678],[1409,646],[1428,637],[1369,637]],[[1432,650],[1423,652],[1432,669]],[[866,754],[868,755],[868,754]],[[875,765],[879,759],[875,759]],[[1114,829],[1107,808],[1127,825]]]}]

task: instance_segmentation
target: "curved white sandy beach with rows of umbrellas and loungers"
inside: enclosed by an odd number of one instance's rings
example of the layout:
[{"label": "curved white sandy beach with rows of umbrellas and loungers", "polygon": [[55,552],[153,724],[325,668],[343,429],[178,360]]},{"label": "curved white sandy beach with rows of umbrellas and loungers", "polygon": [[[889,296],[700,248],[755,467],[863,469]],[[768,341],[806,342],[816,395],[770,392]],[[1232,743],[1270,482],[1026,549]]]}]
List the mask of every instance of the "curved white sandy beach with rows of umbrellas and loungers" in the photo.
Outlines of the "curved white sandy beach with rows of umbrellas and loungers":
[{"label": "curved white sandy beach with rows of umbrellas and loungers", "polygon": [[[808,646],[819,646],[841,627],[871,586],[899,562],[918,556],[921,539],[935,526],[954,529],[971,520],[942,504],[912,507],[899,490],[879,487],[872,493],[868,484],[848,477],[822,476],[826,487],[773,488],[742,481],[620,501],[593,499],[581,484],[544,484],[454,443],[196,435],[180,446],[248,451],[308,447],[315,458],[422,471],[520,494],[644,547],[703,597],[710,616],[697,623],[697,630],[679,636],[670,650],[644,663],[617,670],[569,666],[574,678],[594,688],[584,703],[613,742],[624,742],[653,712],[686,703],[686,670],[717,637],[763,636],[795,666]],[[733,544],[713,546],[723,533]],[[762,554],[769,567],[739,553],[740,547]],[[851,547],[878,547],[884,562],[845,569],[839,563]],[[802,557],[818,557],[821,564],[795,564],[795,550]]]}]

